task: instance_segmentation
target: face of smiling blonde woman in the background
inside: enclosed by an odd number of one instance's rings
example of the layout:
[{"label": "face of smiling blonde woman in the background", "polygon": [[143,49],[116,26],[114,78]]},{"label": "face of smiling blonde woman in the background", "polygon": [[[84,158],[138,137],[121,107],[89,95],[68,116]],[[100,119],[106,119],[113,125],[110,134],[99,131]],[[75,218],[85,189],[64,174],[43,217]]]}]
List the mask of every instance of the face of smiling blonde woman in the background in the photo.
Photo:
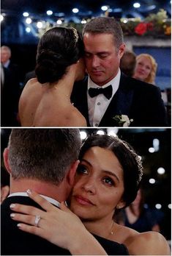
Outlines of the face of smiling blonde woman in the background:
[{"label": "face of smiling blonde woman in the background", "polygon": [[140,57],[137,60],[135,65],[135,75],[136,79],[145,81],[145,79],[149,76],[152,71],[152,63],[147,57]]}]

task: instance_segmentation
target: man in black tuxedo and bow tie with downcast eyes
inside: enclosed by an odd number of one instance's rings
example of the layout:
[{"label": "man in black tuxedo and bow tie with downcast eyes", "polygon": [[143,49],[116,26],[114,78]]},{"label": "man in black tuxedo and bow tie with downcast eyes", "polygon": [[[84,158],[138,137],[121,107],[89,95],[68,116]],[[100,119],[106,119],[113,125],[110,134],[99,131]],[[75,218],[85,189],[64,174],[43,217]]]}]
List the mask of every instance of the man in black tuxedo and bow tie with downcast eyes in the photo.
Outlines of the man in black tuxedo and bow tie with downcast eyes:
[{"label": "man in black tuxedo and bow tie with downcast eyes", "polygon": [[[159,88],[121,73],[125,51],[121,26],[114,18],[94,18],[83,29],[88,77],[77,82],[71,100],[91,127],[167,126]],[[124,115],[124,116],[123,116]]]}]

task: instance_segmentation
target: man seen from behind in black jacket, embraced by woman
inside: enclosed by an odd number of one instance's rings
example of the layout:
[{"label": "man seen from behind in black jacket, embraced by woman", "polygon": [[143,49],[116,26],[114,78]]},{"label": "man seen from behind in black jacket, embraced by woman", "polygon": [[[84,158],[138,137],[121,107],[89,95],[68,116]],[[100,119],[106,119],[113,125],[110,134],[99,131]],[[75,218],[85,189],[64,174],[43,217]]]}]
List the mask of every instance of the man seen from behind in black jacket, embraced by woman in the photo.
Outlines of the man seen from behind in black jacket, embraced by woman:
[{"label": "man seen from behind in black jacket, embraced by woman", "polygon": [[[8,148],[4,149],[10,195],[1,204],[1,255],[70,255],[66,249],[19,230],[10,218],[10,205],[39,207],[27,196],[30,188],[58,207],[70,195],[80,147],[78,129],[12,129]],[[38,222],[35,216],[35,225]],[[109,255],[126,255],[127,250],[119,243],[95,237]]]}]

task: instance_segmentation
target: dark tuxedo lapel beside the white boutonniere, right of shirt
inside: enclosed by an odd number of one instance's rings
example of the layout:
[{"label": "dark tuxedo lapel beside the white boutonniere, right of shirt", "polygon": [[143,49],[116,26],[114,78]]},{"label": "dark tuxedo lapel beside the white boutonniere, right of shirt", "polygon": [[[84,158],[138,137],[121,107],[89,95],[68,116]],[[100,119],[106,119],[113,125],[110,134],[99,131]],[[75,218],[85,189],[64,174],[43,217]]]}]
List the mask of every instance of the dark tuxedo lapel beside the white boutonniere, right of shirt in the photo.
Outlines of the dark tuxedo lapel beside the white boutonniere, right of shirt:
[{"label": "dark tuxedo lapel beside the white boutonniere, right of shirt", "polygon": [[113,99],[111,99],[111,102],[108,105],[99,126],[116,126],[116,123],[113,120],[115,115],[130,116],[133,93],[134,91],[130,88],[130,85],[127,84],[127,77],[121,74],[119,88],[113,96]]}]

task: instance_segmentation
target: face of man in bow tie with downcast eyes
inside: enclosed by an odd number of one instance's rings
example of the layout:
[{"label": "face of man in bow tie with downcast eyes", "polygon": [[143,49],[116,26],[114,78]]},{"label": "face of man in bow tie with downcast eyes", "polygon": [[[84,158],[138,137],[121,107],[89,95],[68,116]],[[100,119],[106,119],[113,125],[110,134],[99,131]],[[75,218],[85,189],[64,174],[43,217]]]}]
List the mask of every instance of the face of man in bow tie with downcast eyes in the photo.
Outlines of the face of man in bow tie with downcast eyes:
[{"label": "face of man in bow tie with downcast eyes", "polygon": [[105,85],[111,81],[119,71],[119,62],[124,54],[125,46],[121,44],[119,50],[114,44],[111,34],[83,35],[85,46],[86,69],[91,80],[97,85]]}]

